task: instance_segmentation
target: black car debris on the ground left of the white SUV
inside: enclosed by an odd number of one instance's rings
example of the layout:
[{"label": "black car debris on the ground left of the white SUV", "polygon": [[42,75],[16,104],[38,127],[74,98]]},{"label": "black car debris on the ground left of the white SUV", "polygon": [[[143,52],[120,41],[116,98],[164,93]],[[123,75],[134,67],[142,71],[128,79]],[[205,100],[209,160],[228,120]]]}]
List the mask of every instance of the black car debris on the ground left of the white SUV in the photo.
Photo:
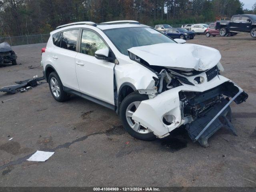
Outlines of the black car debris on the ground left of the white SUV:
[{"label": "black car debris on the ground left of the white SUV", "polygon": [[27,90],[37,86],[38,84],[42,82],[38,82],[40,80],[44,80],[44,77],[38,77],[38,78],[32,78],[32,79],[27,79],[24,81],[16,81],[18,85],[12,85],[12,86],[7,86],[7,87],[2,87],[0,89],[0,92],[7,92],[10,94],[15,94],[17,91],[20,92],[26,92]]}]

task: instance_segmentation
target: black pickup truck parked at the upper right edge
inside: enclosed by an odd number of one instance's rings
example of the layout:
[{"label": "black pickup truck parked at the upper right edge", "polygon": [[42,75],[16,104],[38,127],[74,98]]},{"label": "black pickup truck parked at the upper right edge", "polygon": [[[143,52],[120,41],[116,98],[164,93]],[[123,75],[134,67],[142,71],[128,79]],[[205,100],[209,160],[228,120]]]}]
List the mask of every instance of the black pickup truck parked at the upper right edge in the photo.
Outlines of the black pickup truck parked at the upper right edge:
[{"label": "black pickup truck parked at the upper right edge", "polygon": [[220,36],[226,36],[229,32],[248,32],[252,38],[256,38],[256,15],[234,15],[230,21],[217,21],[216,29],[220,30]]}]

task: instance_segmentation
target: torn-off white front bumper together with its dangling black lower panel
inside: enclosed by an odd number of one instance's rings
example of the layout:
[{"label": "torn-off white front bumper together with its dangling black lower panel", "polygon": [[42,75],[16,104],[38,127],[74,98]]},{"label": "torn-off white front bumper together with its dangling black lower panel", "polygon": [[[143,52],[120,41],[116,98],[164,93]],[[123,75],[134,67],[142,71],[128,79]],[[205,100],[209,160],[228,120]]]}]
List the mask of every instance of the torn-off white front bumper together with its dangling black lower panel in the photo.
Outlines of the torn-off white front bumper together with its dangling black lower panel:
[{"label": "torn-off white front bumper together with its dangling black lower panel", "polygon": [[[222,85],[224,87],[220,88]],[[214,90],[214,88],[217,89],[217,87],[219,94],[227,96],[227,99],[222,98],[221,102],[206,110],[204,114],[192,120],[192,122],[188,120],[189,118],[183,116],[183,104],[180,100],[179,92],[204,93],[211,89]],[[228,100],[228,98],[231,99]],[[192,140],[194,142],[199,141],[202,146],[207,146],[208,138],[223,126],[223,123],[221,124],[219,122],[219,117],[224,118],[230,114],[229,105],[231,102],[235,101],[239,104],[247,98],[248,95],[231,80],[223,76],[216,76],[214,79],[204,84],[198,84],[196,86],[184,84],[183,86],[162,92],[152,99],[142,101],[138,109],[134,112],[132,119],[150,129],[158,138],[163,138],[175,128],[187,124],[186,129]],[[165,121],[164,117],[166,116],[171,117],[172,123]],[[205,116],[208,118],[205,118]],[[168,122],[170,122],[170,120]],[[215,128],[212,128],[214,124],[217,125]],[[198,125],[200,125],[200,128],[198,128]],[[225,125],[231,127],[230,122],[226,122]]]}]

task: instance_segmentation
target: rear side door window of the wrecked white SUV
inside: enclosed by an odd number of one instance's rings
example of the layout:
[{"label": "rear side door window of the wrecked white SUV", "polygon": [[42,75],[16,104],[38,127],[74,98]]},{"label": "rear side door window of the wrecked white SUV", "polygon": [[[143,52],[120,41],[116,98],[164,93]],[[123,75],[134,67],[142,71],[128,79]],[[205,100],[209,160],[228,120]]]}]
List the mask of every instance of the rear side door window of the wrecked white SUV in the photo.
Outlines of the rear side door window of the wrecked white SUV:
[{"label": "rear side door window of the wrecked white SUV", "polygon": [[79,29],[63,31],[60,40],[60,47],[71,51],[76,51],[78,34]]}]

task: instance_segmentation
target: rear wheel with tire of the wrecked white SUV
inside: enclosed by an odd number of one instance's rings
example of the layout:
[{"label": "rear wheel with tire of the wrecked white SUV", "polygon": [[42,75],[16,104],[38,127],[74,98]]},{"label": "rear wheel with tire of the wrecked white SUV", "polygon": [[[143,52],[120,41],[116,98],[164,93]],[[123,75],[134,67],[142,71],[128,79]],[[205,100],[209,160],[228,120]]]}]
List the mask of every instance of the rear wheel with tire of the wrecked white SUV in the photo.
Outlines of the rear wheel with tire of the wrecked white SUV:
[{"label": "rear wheel with tire of the wrecked white SUV", "polygon": [[48,78],[50,92],[53,98],[58,102],[68,100],[69,96],[63,90],[62,82],[56,72],[51,72]]}]

